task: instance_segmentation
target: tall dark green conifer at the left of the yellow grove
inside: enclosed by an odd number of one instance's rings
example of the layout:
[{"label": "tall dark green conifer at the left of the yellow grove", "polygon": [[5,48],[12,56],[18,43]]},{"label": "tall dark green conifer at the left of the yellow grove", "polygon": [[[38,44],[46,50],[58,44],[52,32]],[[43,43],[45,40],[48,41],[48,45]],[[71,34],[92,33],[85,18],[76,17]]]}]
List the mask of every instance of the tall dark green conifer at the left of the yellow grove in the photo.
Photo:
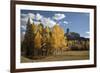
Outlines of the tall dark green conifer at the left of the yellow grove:
[{"label": "tall dark green conifer at the left of the yellow grove", "polygon": [[26,56],[32,56],[33,48],[34,48],[35,28],[33,29],[34,24],[31,24],[30,21],[31,21],[31,18],[28,19],[25,37],[23,40],[23,46],[24,46],[24,49],[26,50]]}]

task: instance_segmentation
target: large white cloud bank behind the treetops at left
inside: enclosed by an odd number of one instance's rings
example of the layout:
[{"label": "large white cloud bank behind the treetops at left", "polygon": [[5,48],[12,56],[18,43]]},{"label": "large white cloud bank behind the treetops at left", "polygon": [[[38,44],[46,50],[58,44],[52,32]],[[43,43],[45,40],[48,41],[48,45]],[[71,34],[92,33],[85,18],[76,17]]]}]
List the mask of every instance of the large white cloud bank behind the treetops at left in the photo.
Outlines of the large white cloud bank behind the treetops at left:
[{"label": "large white cloud bank behind the treetops at left", "polygon": [[[28,19],[30,18],[30,23],[34,23],[34,24],[40,24],[41,23],[44,25],[44,27],[48,26],[48,27],[53,27],[56,22],[54,20],[52,20],[51,18],[47,18],[42,16],[41,14],[37,13],[37,14],[33,14],[33,13],[28,13],[28,14],[21,14],[21,26],[26,26]],[[40,21],[38,21],[40,20]],[[23,27],[24,28],[24,27]]]}]

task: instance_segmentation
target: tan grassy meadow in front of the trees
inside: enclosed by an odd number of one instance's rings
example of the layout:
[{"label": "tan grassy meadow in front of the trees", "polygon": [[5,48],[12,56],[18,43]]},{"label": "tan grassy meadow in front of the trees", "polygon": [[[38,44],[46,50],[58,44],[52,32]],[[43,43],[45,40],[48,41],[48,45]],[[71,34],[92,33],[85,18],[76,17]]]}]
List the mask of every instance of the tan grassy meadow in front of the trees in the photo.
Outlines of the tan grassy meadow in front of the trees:
[{"label": "tan grassy meadow in front of the trees", "polygon": [[47,56],[39,59],[29,59],[21,56],[21,62],[47,62],[47,61],[69,61],[89,59],[89,51],[65,51],[62,55]]}]

